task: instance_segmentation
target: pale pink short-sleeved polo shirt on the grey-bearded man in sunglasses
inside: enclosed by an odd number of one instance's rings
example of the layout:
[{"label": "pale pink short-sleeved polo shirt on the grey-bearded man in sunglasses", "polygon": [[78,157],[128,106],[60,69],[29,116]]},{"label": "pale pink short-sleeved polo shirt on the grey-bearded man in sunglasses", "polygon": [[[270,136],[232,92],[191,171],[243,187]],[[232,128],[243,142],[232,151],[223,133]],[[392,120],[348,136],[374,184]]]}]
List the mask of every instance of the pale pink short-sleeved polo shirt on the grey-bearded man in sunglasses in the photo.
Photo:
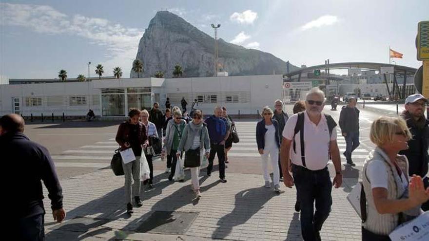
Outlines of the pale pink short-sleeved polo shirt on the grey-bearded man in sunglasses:
[{"label": "pale pink short-sleeved polo shirt on the grey-bearded man in sunglasses", "polygon": [[[336,127],[333,128],[331,139],[329,137],[328,123],[326,117],[322,113],[322,118],[316,126],[309,118],[307,111],[304,112],[304,146],[305,146],[305,164],[310,170],[320,170],[328,165],[329,161],[329,143],[330,140],[337,139]],[[289,117],[283,130],[283,137],[292,140],[295,125],[298,120],[298,114]],[[301,142],[300,133],[295,135],[296,154],[293,151],[293,142],[291,144],[291,160],[292,163],[298,166],[302,165],[301,160]]]}]

